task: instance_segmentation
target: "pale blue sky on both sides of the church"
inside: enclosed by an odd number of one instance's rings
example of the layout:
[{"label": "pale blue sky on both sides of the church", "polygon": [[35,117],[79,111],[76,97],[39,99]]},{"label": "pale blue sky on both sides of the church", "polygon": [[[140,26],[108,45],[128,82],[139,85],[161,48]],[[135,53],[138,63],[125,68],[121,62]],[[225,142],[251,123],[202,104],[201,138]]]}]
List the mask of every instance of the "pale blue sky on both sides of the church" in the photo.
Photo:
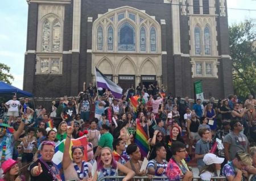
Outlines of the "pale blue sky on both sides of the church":
[{"label": "pale blue sky on both sides of the church", "polygon": [[[255,19],[256,23],[256,0],[227,0],[227,3],[229,25],[240,23],[248,18]],[[27,12],[28,5],[26,0],[1,1],[0,62],[10,66],[10,73],[14,75],[12,85],[19,89],[23,88]]]}]

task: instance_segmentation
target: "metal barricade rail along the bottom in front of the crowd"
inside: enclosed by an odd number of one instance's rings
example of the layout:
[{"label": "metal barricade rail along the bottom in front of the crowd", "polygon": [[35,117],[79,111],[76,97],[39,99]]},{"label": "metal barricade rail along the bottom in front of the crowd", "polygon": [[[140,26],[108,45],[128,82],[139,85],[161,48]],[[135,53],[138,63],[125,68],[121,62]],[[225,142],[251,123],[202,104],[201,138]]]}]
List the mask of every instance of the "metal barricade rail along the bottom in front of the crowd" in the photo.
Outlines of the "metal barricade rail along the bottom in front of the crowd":
[{"label": "metal barricade rail along the bottom in front of the crowd", "polygon": [[[122,179],[125,176],[105,176],[104,178],[101,178],[98,181],[122,181]],[[150,180],[150,181],[161,181],[161,180],[168,180],[167,176],[153,176],[151,179],[148,178],[148,176],[134,176],[132,181],[141,181],[141,180]],[[182,180],[182,179],[181,179]],[[200,176],[195,176],[193,177],[193,180],[201,180]],[[213,176],[212,179],[213,181],[225,181],[226,177],[225,176]]]}]

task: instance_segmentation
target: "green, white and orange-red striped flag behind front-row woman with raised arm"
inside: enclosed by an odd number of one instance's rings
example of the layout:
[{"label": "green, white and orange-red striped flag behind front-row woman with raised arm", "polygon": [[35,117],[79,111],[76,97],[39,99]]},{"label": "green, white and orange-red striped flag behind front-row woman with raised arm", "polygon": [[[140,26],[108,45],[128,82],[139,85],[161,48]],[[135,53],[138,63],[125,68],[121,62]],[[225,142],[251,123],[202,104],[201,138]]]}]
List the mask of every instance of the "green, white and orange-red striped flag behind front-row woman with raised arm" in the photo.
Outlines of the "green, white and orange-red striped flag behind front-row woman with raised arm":
[{"label": "green, white and orange-red striped flag behind front-row woman with raised arm", "polygon": [[[69,154],[71,157],[71,147],[72,146],[84,146],[84,161],[87,161],[87,138],[86,136],[82,136],[77,139],[72,139],[70,148],[69,148]],[[62,167],[62,159],[63,159],[63,153],[64,153],[64,147],[65,147],[65,140],[61,141],[58,145],[55,146],[55,154],[53,155],[52,162],[57,165],[59,169]],[[71,157],[72,159],[72,157]]]}]

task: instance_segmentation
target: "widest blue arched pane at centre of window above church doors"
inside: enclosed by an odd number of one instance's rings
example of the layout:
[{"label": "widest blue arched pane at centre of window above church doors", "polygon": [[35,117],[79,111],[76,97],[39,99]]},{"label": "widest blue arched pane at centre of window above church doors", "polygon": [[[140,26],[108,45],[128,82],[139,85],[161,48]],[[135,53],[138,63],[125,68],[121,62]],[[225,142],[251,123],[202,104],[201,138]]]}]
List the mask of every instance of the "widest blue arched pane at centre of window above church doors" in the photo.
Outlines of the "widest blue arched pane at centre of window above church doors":
[{"label": "widest blue arched pane at centre of window above church doors", "polygon": [[118,30],[118,50],[135,51],[135,29],[128,22]]}]

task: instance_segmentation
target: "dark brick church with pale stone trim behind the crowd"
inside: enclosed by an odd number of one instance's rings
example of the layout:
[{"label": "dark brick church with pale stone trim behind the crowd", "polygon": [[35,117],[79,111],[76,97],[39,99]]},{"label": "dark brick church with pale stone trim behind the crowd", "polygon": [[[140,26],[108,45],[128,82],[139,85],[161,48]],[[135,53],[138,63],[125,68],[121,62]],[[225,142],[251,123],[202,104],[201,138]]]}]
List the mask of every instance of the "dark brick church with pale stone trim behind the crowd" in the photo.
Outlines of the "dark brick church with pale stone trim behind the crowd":
[{"label": "dark brick church with pale stone trim behind the crowd", "polygon": [[142,83],[205,98],[233,93],[226,0],[27,0],[23,90],[77,95],[95,67],[123,89]]}]

